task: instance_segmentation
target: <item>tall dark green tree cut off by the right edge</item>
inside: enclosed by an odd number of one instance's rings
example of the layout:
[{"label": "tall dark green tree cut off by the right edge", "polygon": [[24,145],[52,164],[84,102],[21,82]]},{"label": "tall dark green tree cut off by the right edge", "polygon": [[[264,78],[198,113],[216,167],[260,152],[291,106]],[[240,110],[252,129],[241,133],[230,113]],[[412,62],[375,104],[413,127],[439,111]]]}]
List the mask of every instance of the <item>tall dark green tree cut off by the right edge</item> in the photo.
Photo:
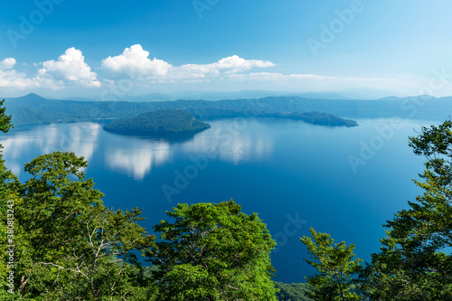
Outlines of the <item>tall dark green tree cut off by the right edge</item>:
[{"label": "tall dark green tree cut off by the right edge", "polygon": [[452,300],[452,121],[410,137],[427,158],[424,190],[385,225],[381,252],[372,254],[363,287],[372,300]]}]

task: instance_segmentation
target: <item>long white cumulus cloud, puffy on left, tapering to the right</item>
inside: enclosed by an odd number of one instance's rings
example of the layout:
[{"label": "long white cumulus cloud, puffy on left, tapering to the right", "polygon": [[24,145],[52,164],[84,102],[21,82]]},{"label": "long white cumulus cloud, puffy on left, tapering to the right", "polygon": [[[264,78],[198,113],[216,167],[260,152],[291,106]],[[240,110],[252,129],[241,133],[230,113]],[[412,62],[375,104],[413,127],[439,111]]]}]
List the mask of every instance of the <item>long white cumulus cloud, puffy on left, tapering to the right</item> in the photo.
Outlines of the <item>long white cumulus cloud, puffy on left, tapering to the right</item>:
[{"label": "long white cumulus cloud, puffy on left, tapering to the right", "polygon": [[140,80],[196,80],[220,77],[249,71],[252,68],[272,67],[271,61],[245,60],[237,55],[223,58],[210,64],[185,64],[173,66],[154,58],[149,52],[136,44],[126,48],[122,54],[102,61],[102,69],[108,71],[110,78],[126,75],[130,79]]}]

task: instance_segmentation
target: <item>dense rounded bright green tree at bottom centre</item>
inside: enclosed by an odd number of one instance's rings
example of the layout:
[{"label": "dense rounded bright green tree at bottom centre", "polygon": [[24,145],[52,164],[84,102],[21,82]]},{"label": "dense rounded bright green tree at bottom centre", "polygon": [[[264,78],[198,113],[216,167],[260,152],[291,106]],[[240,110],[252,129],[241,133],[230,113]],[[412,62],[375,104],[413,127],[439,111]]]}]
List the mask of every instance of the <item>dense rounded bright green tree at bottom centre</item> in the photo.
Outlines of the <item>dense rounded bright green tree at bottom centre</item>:
[{"label": "dense rounded bright green tree at bottom centre", "polygon": [[275,247],[258,215],[232,200],[178,204],[155,231],[149,254],[162,300],[276,300],[269,252]]}]

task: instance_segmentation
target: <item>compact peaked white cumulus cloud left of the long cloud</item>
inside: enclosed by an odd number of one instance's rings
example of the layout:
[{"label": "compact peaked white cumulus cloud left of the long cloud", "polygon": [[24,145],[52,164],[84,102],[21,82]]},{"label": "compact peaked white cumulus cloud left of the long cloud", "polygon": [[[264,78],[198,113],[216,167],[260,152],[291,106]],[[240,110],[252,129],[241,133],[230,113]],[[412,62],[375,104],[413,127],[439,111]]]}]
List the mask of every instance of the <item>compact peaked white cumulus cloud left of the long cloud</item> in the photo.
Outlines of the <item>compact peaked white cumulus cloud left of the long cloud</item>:
[{"label": "compact peaked white cumulus cloud left of the long cloud", "polygon": [[80,50],[69,48],[58,58],[58,61],[44,61],[43,68],[38,71],[41,77],[51,77],[54,80],[71,82],[84,86],[99,87],[97,74],[91,71]]}]

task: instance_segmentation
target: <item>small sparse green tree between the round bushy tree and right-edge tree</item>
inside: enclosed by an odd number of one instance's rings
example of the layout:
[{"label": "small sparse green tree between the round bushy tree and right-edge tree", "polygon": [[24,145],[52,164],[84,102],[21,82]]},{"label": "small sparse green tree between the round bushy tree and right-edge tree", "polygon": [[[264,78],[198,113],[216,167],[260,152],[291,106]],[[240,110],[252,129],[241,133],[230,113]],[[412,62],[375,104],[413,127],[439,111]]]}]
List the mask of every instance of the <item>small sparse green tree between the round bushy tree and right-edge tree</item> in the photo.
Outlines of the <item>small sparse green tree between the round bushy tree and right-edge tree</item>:
[{"label": "small sparse green tree between the round bushy tree and right-edge tree", "polygon": [[363,259],[353,259],[354,245],[345,242],[334,244],[331,235],[310,229],[313,239],[303,236],[300,240],[306,245],[313,260],[305,261],[317,269],[318,274],[306,277],[310,291],[306,295],[314,300],[363,300],[362,296],[351,291],[361,271]]}]

